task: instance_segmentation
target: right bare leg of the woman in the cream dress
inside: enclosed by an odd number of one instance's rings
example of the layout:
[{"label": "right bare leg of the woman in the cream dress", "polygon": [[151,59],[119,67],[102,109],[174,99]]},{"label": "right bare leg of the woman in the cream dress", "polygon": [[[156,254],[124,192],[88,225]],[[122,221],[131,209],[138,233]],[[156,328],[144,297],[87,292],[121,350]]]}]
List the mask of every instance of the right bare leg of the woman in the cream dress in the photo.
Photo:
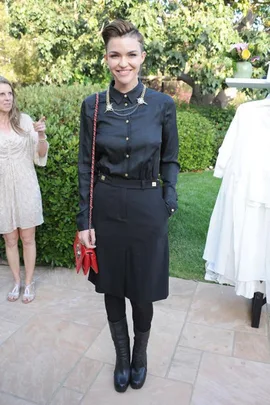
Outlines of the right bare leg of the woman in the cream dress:
[{"label": "right bare leg of the woman in the cream dress", "polygon": [[25,285],[32,282],[36,264],[36,228],[20,229],[20,238],[23,244],[23,259],[25,266]]}]

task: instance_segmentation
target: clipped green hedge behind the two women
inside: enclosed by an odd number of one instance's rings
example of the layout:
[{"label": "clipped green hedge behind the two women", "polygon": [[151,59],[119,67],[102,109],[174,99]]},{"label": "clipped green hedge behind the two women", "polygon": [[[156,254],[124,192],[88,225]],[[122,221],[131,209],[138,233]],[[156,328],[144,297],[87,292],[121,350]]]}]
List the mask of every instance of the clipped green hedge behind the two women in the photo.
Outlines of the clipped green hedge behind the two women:
[{"label": "clipped green hedge behind the two women", "polygon": [[[19,90],[20,109],[33,119],[46,116],[49,159],[37,168],[45,222],[37,229],[37,263],[71,267],[78,210],[77,154],[80,105],[95,86],[30,86]],[[210,118],[210,119],[209,119]],[[178,108],[182,170],[205,169],[214,159],[211,117],[191,108]],[[0,256],[4,244],[0,240]]]}]

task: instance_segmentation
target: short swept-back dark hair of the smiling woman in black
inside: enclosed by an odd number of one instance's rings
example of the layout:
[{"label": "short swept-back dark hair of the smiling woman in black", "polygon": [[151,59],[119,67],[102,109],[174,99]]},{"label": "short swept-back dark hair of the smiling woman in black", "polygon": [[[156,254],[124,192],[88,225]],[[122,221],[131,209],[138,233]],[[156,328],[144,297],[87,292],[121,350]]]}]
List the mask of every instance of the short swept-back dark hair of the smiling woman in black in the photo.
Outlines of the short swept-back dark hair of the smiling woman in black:
[{"label": "short swept-back dark hair of the smiling woman in black", "polygon": [[128,36],[128,37],[136,37],[138,42],[140,43],[141,50],[143,51],[144,49],[144,40],[142,34],[129,21],[121,19],[114,20],[105,26],[101,35],[106,48],[111,38]]}]

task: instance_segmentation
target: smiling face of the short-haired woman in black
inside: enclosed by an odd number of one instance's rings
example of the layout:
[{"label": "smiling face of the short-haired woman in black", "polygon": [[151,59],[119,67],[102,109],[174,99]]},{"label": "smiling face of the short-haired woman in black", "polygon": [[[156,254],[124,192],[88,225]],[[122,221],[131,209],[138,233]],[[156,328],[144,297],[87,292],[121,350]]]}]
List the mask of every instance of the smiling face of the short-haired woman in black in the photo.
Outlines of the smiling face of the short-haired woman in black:
[{"label": "smiling face of the short-haired woman in black", "polygon": [[132,90],[138,84],[138,74],[146,53],[142,52],[136,37],[111,38],[105,60],[115,80],[115,88],[122,92]]}]

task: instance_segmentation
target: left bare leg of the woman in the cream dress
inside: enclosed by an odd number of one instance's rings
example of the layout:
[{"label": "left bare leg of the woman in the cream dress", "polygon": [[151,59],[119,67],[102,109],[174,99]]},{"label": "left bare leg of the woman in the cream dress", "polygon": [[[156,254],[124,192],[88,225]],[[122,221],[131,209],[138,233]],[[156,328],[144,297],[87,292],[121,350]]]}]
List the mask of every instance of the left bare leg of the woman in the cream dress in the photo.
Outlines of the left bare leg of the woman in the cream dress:
[{"label": "left bare leg of the woman in the cream dress", "polygon": [[20,284],[20,257],[18,250],[18,229],[4,235],[6,255],[15,283]]}]

